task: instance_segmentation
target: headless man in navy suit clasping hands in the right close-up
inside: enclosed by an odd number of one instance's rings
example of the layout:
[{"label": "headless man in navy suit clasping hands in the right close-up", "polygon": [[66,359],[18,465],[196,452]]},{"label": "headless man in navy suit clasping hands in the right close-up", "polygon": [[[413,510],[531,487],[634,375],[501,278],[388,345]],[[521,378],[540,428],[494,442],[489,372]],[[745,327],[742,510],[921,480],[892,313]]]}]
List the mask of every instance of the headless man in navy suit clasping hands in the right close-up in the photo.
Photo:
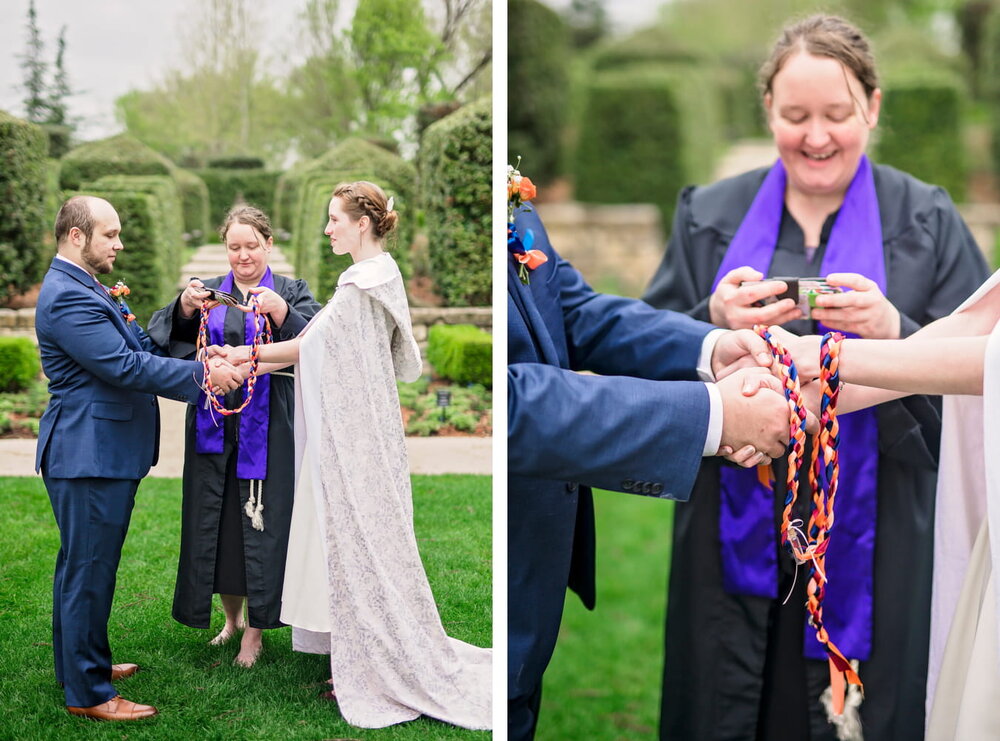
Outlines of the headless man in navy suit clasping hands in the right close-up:
[{"label": "headless man in navy suit clasping hands in the right close-up", "polygon": [[595,293],[533,209],[522,207],[515,224],[548,261],[525,285],[511,260],[507,278],[512,741],[534,736],[567,586],[594,606],[589,487],[684,501],[702,456],[768,463],[789,434],[756,334]]}]

